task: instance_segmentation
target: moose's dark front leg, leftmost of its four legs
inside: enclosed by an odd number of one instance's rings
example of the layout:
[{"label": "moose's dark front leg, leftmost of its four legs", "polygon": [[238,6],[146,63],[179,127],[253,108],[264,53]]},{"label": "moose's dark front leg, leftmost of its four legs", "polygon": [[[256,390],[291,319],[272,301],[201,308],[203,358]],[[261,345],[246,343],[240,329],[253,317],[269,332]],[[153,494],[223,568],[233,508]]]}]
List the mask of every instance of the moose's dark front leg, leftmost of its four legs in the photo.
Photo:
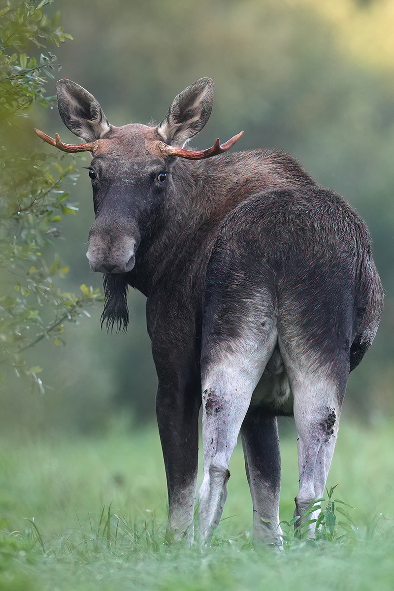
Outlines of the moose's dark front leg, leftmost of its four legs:
[{"label": "moose's dark front leg, leftmost of its four legs", "polygon": [[168,488],[169,540],[193,541],[198,460],[200,389],[180,395],[158,389],[156,413]]}]

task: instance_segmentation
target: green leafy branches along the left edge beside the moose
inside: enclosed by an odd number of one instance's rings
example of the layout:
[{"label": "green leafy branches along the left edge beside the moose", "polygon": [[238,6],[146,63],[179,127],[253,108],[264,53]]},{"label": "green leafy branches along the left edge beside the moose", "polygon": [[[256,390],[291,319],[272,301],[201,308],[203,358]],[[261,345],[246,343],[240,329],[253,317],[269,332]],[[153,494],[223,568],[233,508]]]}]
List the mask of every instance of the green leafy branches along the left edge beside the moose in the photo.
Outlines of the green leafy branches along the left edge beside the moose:
[{"label": "green leafy branches along the left edge beside the moose", "polygon": [[34,103],[48,107],[56,99],[45,96],[56,56],[34,55],[71,38],[59,27],[59,14],[44,14],[52,1],[8,2],[0,11],[0,362],[29,376],[40,391],[41,368],[29,368],[23,352],[44,338],[63,345],[64,322],[75,322],[100,297],[85,285],[76,296],[55,284],[69,271],[53,241],[63,216],[77,211],[64,189],[76,181],[75,164],[28,148],[20,119]]}]

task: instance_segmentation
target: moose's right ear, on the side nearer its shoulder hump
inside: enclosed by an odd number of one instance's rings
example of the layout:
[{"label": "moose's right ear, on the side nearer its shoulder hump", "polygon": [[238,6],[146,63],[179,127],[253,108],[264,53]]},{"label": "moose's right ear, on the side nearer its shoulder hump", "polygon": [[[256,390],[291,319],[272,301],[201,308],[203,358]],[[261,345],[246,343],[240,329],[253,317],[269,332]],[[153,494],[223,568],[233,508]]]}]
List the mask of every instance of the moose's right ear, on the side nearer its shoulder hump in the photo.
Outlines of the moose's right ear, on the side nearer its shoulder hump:
[{"label": "moose's right ear, on the side nearer its shoulder hump", "polygon": [[183,146],[198,134],[209,119],[213,103],[213,82],[201,78],[175,96],[157,131],[166,144]]}]

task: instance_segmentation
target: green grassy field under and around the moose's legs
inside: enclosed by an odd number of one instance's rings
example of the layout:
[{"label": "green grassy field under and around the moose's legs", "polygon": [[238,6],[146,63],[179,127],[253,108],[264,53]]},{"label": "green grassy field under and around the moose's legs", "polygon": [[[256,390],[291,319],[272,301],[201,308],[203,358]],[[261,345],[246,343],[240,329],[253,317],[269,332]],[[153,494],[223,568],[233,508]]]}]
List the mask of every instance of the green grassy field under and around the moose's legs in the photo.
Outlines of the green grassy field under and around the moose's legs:
[{"label": "green grassy field under and around the moose's legs", "polygon": [[[31,440],[0,449],[0,589],[9,591],[394,589],[394,423],[343,420],[329,486],[356,527],[337,513],[334,541],[296,540],[282,553],[250,544],[251,502],[242,450],[213,546],[164,543],[165,476],[155,427],[102,437]],[[297,493],[295,434],[281,437],[281,519]]]}]

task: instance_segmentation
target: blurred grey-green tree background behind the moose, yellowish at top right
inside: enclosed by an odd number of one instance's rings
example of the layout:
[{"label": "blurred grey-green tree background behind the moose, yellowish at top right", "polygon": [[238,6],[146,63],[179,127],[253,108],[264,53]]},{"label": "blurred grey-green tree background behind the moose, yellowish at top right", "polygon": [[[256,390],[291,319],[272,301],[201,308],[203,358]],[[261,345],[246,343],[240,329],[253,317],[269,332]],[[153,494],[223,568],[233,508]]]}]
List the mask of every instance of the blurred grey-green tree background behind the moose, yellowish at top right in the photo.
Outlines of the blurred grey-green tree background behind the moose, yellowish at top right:
[{"label": "blurred grey-green tree background behind the moose, yellowish at top right", "polygon": [[[160,121],[178,92],[209,76],[216,85],[214,108],[196,147],[245,129],[237,149],[291,152],[363,216],[385,287],[385,314],[367,358],[350,376],[345,407],[363,420],[393,416],[391,0],[56,0],[45,10],[50,18],[60,11],[61,26],[73,36],[54,50],[55,79],[69,78],[93,93],[113,124]],[[48,95],[55,81],[47,84]],[[19,151],[36,147],[50,154],[33,127],[75,141],[56,108],[37,106],[21,124]],[[64,167],[72,161],[65,158]],[[60,268],[70,268],[53,278],[64,292],[101,285],[85,256],[93,221],[83,170],[88,163],[86,155],[76,156],[80,178],[75,185],[69,180],[68,188],[64,180],[79,212],[63,219],[51,247]],[[22,378],[10,380],[2,388],[0,428],[87,432],[108,428],[119,413],[131,424],[154,417],[156,377],[144,300],[129,293],[126,335],[100,331],[97,304],[89,309],[92,318],[66,331],[65,346],[43,339],[28,350],[28,365],[44,370],[45,393],[30,394]]]}]

